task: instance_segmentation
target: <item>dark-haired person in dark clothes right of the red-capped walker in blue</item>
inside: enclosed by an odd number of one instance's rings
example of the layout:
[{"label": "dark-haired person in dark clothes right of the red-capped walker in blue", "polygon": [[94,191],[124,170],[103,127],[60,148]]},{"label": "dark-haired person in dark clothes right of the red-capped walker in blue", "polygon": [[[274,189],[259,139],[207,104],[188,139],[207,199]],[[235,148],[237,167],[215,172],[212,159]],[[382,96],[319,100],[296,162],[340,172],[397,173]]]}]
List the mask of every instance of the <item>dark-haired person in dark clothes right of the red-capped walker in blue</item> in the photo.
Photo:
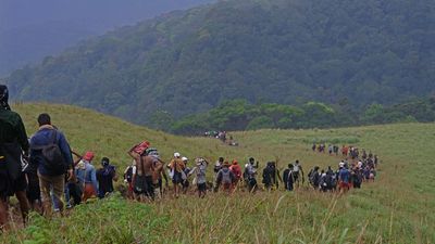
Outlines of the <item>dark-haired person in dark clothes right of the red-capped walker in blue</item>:
[{"label": "dark-haired person in dark clothes right of the red-capped walker in blue", "polygon": [[98,197],[103,198],[107,193],[114,191],[113,181],[117,181],[115,166],[109,164],[108,157],[101,159],[102,168],[97,171]]}]

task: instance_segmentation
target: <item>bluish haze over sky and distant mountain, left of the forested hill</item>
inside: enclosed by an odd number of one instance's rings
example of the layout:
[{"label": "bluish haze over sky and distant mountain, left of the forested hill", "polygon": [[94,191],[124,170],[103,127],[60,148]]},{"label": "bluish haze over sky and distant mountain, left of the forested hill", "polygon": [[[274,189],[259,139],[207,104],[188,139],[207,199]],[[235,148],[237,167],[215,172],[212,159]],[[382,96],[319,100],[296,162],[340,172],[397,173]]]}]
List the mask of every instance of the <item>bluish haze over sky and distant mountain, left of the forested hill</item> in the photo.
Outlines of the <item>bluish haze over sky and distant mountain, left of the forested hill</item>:
[{"label": "bluish haze over sky and distant mountain, left of the forested hill", "polygon": [[0,75],[89,36],[213,0],[0,0]]}]

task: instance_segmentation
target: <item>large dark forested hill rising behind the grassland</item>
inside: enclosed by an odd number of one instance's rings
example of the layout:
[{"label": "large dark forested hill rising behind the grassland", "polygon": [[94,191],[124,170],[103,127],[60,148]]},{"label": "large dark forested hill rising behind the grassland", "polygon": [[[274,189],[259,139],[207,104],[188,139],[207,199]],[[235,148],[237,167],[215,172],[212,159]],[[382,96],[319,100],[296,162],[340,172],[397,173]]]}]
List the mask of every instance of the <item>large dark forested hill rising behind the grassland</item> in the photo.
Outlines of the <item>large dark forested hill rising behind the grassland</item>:
[{"label": "large dark forested hill rising behind the grassland", "polygon": [[433,0],[233,0],[83,42],[7,78],[25,101],[148,123],[223,100],[355,106],[435,92]]}]

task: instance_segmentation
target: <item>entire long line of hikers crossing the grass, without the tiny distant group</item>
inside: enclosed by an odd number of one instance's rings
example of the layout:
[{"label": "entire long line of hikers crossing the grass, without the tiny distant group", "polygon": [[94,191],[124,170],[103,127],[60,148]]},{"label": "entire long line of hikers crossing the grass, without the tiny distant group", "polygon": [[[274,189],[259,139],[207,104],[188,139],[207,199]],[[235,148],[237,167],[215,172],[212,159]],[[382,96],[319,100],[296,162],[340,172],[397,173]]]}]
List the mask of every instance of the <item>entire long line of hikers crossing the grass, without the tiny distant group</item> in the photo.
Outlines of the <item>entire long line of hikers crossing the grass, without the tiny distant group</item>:
[{"label": "entire long line of hikers crossing the grass, without the tiny distant group", "polygon": [[[96,169],[95,154],[86,152],[80,155],[73,152],[64,133],[51,124],[51,117],[46,113],[37,117],[39,128],[28,139],[21,116],[11,111],[8,99],[8,88],[0,86],[2,229],[8,228],[9,198],[13,195],[18,200],[25,222],[30,209],[48,217],[53,213],[62,215],[65,208],[91,198],[103,198],[115,190],[114,181],[119,177],[108,157],[102,157],[101,167]],[[338,155],[336,147],[330,145],[330,154]],[[324,152],[324,145],[313,145],[314,152]],[[363,181],[374,180],[377,165],[375,155],[365,155],[363,150],[359,157],[357,147],[345,145],[341,152],[346,158],[350,158],[341,160],[337,170],[334,171],[332,167],[321,171],[319,167],[310,170],[308,179],[314,189],[344,192],[351,187],[360,188]],[[294,191],[304,184],[304,172],[299,160],[289,164],[281,175],[276,162],[268,162],[260,171],[260,163],[253,157],[247,160],[244,168],[236,159],[220,157],[213,165],[213,176],[207,177],[210,162],[204,157],[197,157],[190,164],[189,158],[175,152],[166,164],[148,141],[132,146],[127,154],[133,160],[123,174],[127,185],[126,196],[139,202],[159,201],[169,195],[166,191],[170,181],[175,198],[190,192],[206,197],[208,192],[233,194],[239,189],[249,192],[275,191],[279,184],[286,191]],[[258,178],[261,178],[261,184]]]}]

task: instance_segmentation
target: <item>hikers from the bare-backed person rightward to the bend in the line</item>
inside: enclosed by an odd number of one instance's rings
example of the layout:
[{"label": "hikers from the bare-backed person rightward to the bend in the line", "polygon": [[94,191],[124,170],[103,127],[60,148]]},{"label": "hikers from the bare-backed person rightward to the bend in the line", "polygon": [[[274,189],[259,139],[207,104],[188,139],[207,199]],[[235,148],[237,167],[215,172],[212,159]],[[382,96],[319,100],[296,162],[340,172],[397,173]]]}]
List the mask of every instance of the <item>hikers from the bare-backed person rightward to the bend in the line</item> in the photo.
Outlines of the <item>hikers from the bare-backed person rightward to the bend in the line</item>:
[{"label": "hikers from the bare-backed person rightward to the bend in the line", "polygon": [[[160,200],[164,189],[169,189],[169,180],[173,183],[173,195],[178,197],[181,193],[188,192],[190,180],[196,187],[195,191],[199,197],[204,197],[207,191],[223,191],[228,194],[236,189],[246,189],[254,192],[258,189],[266,191],[277,190],[279,183],[284,189],[293,191],[304,183],[304,172],[299,160],[289,164],[281,175],[275,162],[266,163],[261,174],[261,185],[257,182],[259,162],[250,157],[245,165],[240,167],[236,159],[225,160],[220,157],[213,167],[213,181],[207,181],[207,167],[210,163],[203,157],[197,157],[195,165],[189,166],[189,159],[175,152],[174,157],[166,165],[160,159],[158,150],[149,147],[149,142],[142,142],[134,145],[128,154],[134,158],[133,164],[127,166],[124,171],[124,180],[128,183],[127,196],[138,201]],[[363,181],[374,180],[376,175],[375,160],[373,157],[366,159],[341,160],[338,169],[333,170],[328,167],[320,171],[320,167],[314,167],[308,174],[309,183],[316,190],[348,191],[350,188],[361,188]],[[192,179],[191,179],[192,178]],[[163,188],[163,180],[165,188]]]}]

